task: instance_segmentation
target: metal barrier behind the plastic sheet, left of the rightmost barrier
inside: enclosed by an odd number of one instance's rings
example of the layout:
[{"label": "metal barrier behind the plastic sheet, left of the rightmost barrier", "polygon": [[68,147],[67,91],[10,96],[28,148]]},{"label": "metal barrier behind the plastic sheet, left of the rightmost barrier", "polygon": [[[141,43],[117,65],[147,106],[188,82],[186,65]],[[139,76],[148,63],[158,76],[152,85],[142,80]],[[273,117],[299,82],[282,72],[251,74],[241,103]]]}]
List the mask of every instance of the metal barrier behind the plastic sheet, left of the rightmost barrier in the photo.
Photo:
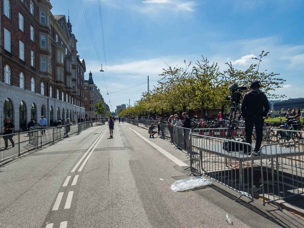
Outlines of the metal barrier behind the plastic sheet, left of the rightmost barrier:
[{"label": "metal barrier behind the plastic sheet, left of the rightmost barrier", "polygon": [[244,150],[252,151],[249,143],[236,142],[199,134],[195,129],[190,134],[192,150],[190,150],[191,174],[205,175],[253,201],[254,164],[253,156],[244,154]]}]

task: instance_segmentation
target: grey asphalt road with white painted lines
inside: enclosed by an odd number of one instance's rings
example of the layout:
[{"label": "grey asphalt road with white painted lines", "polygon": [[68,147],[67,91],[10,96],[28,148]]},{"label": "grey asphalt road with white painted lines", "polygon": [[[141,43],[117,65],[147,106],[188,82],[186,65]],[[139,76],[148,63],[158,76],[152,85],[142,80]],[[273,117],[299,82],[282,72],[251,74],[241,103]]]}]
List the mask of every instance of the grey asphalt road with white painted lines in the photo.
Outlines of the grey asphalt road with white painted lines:
[{"label": "grey asphalt road with white painted lines", "polygon": [[[141,136],[140,136],[141,135]],[[186,154],[147,130],[95,126],[0,170],[1,228],[304,227],[299,216],[218,183],[174,192]],[[143,137],[146,139],[144,140]]]}]

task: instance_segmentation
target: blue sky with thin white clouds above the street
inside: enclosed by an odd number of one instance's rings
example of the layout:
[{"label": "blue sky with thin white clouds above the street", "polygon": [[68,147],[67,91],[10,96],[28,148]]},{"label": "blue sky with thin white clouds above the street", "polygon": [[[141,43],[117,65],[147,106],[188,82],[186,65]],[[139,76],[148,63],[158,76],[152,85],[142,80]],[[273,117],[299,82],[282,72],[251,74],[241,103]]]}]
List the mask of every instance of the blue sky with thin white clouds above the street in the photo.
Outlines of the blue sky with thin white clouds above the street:
[{"label": "blue sky with thin white clouds above the street", "polygon": [[304,96],[304,1],[100,0],[108,64],[103,74],[81,7],[85,2],[104,69],[98,0],[50,2],[54,15],[67,16],[70,10],[78,54],[86,62],[85,79],[92,71],[113,110],[129,99],[130,104],[139,100],[147,84],[116,91],[145,83],[147,75],[150,89],[157,85],[158,74],[168,68],[164,61],[183,67],[183,60],[195,62],[203,55],[217,62],[220,71],[227,69],[227,61],[245,70],[262,50],[270,53],[260,69],[280,73],[286,80],[275,92],[287,98]]}]

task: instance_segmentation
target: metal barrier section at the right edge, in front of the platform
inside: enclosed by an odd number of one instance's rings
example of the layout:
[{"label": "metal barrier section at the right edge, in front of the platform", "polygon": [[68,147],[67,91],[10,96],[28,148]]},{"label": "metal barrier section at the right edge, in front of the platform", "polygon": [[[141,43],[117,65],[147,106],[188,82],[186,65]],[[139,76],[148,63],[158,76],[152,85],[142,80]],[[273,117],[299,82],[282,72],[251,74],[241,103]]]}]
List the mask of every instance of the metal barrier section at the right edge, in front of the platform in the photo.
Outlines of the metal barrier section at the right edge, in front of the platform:
[{"label": "metal barrier section at the right edge, in front of the platform", "polygon": [[263,203],[304,193],[304,140],[262,145]]}]

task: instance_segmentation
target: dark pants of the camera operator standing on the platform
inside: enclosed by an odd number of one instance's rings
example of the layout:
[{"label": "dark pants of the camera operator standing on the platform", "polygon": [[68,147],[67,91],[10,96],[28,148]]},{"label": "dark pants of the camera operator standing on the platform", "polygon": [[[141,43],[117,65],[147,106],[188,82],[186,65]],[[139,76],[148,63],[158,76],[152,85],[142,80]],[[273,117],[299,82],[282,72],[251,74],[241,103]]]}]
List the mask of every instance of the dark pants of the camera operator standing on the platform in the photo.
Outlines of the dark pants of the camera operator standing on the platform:
[{"label": "dark pants of the camera operator standing on the platform", "polygon": [[[255,126],[256,133],[256,143],[255,143],[255,151],[258,152],[260,150],[262,140],[263,140],[263,125],[264,119],[263,116],[247,116],[245,119],[245,138],[246,143],[252,143],[252,131],[253,126]],[[250,151],[248,151],[250,152]]]}]

